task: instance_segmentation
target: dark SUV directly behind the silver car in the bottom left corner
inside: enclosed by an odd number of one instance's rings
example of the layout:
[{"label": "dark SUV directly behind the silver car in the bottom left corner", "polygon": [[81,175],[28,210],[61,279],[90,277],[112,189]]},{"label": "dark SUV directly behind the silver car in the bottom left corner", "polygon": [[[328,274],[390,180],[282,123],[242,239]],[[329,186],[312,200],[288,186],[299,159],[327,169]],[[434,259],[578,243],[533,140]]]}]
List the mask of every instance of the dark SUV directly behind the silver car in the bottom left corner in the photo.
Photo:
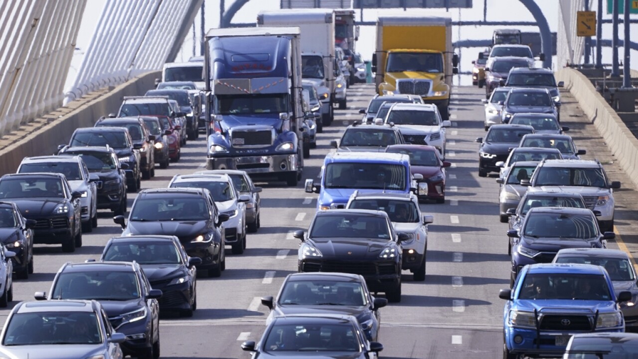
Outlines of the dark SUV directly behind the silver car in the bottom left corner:
[{"label": "dark SUV directly behind the silver car in the bottom left corner", "polygon": [[159,358],[159,303],[162,292],[152,289],[135,262],[65,263],[53,279],[47,297],[36,300],[81,299],[100,302],[113,329],[126,334],[124,355]]}]

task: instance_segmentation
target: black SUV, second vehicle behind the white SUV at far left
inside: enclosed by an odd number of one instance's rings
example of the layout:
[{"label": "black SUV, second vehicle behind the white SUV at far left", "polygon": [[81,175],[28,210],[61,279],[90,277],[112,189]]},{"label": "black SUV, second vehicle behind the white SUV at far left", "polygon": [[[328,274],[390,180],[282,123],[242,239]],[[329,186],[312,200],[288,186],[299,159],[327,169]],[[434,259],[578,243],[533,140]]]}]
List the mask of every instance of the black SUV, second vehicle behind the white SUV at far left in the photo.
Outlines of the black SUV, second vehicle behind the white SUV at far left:
[{"label": "black SUV, second vehicle behind the white SUV at far left", "polygon": [[83,127],[78,128],[71,135],[68,145],[57,146],[59,151],[68,147],[108,146],[115,150],[119,162],[128,165],[126,172],[126,187],[131,192],[137,192],[142,187],[142,171],[140,171],[140,151],[142,144],[133,144],[131,135],[126,128],[121,127]]}]

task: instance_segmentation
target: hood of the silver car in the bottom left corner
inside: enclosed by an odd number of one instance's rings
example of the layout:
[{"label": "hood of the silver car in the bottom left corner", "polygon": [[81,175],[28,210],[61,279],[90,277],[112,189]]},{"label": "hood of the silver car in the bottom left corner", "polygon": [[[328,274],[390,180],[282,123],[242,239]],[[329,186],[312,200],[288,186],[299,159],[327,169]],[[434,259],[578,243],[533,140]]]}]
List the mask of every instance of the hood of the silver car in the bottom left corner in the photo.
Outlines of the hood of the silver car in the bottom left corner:
[{"label": "hood of the silver car in the bottom left corner", "polygon": [[1,348],[0,356],[11,359],[67,359],[90,358],[99,355],[104,344],[48,344]]}]

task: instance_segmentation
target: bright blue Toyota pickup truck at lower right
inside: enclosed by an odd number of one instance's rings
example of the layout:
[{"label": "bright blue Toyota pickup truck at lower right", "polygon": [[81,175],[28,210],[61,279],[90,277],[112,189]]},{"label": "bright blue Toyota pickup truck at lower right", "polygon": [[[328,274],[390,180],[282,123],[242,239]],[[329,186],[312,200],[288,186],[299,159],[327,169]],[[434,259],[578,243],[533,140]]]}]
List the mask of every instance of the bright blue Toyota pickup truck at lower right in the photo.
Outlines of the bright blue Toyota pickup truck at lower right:
[{"label": "bright blue Toyota pickup truck at lower right", "polygon": [[628,291],[614,294],[611,279],[591,264],[530,264],[512,289],[501,289],[503,358],[562,355],[571,335],[625,332],[618,305]]}]

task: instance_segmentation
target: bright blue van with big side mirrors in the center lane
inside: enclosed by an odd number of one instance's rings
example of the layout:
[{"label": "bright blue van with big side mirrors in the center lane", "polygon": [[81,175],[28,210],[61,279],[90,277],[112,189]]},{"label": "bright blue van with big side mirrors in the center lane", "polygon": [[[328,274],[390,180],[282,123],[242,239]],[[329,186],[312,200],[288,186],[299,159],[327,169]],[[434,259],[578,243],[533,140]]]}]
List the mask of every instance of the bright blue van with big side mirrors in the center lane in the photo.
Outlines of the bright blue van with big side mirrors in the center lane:
[{"label": "bright blue van with big side mirrors in the center lane", "polygon": [[[410,173],[410,157],[401,153],[333,152],[323,160],[321,183],[306,179],[305,190],[318,193],[317,211],[346,208],[350,195],[359,193],[397,193],[416,191]],[[418,183],[426,191],[427,183]]]}]

